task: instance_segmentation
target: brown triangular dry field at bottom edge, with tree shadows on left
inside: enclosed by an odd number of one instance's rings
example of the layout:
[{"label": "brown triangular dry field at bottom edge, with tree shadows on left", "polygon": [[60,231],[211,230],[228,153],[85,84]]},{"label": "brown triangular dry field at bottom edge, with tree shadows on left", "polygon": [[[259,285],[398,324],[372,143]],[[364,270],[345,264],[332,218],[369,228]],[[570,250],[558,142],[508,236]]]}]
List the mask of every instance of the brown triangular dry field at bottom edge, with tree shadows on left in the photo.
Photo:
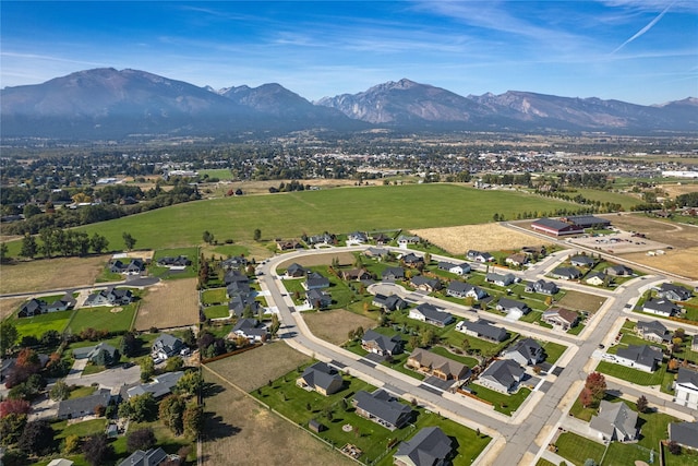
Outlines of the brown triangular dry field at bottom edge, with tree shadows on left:
[{"label": "brown triangular dry field at bottom edge, with tree shadows on left", "polygon": [[[288,348],[281,343],[268,347],[273,346]],[[244,372],[249,374],[255,371],[250,371],[248,367]],[[356,465],[310,433],[261,407],[209,371],[204,370],[204,378],[206,382],[216,383],[222,389],[206,398],[204,432],[208,438],[205,438],[202,449],[204,465]]]}]

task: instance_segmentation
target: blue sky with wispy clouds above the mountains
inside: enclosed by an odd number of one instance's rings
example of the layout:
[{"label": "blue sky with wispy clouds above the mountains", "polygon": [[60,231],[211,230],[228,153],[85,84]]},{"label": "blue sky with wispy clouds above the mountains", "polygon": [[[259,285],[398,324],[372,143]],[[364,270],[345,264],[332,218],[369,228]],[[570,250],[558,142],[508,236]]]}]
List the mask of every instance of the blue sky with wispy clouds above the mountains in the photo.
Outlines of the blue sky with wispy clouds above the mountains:
[{"label": "blue sky with wispy clouds above the mountains", "polygon": [[301,96],[402,77],[460,95],[698,97],[698,1],[0,2],[0,86],[92,68]]}]

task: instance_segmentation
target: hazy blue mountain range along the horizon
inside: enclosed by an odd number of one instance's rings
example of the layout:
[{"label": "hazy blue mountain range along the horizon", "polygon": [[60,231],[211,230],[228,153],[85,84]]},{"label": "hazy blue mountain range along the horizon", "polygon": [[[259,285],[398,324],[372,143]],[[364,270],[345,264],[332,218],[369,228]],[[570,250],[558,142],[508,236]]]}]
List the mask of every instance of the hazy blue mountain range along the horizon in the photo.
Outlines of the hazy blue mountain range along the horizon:
[{"label": "hazy blue mountain range along the horizon", "polygon": [[698,99],[655,106],[509,91],[460,96],[404,79],[315,103],[279,84],[198,87],[137,70],[96,69],[0,91],[3,140],[233,138],[250,132],[698,131]]}]

